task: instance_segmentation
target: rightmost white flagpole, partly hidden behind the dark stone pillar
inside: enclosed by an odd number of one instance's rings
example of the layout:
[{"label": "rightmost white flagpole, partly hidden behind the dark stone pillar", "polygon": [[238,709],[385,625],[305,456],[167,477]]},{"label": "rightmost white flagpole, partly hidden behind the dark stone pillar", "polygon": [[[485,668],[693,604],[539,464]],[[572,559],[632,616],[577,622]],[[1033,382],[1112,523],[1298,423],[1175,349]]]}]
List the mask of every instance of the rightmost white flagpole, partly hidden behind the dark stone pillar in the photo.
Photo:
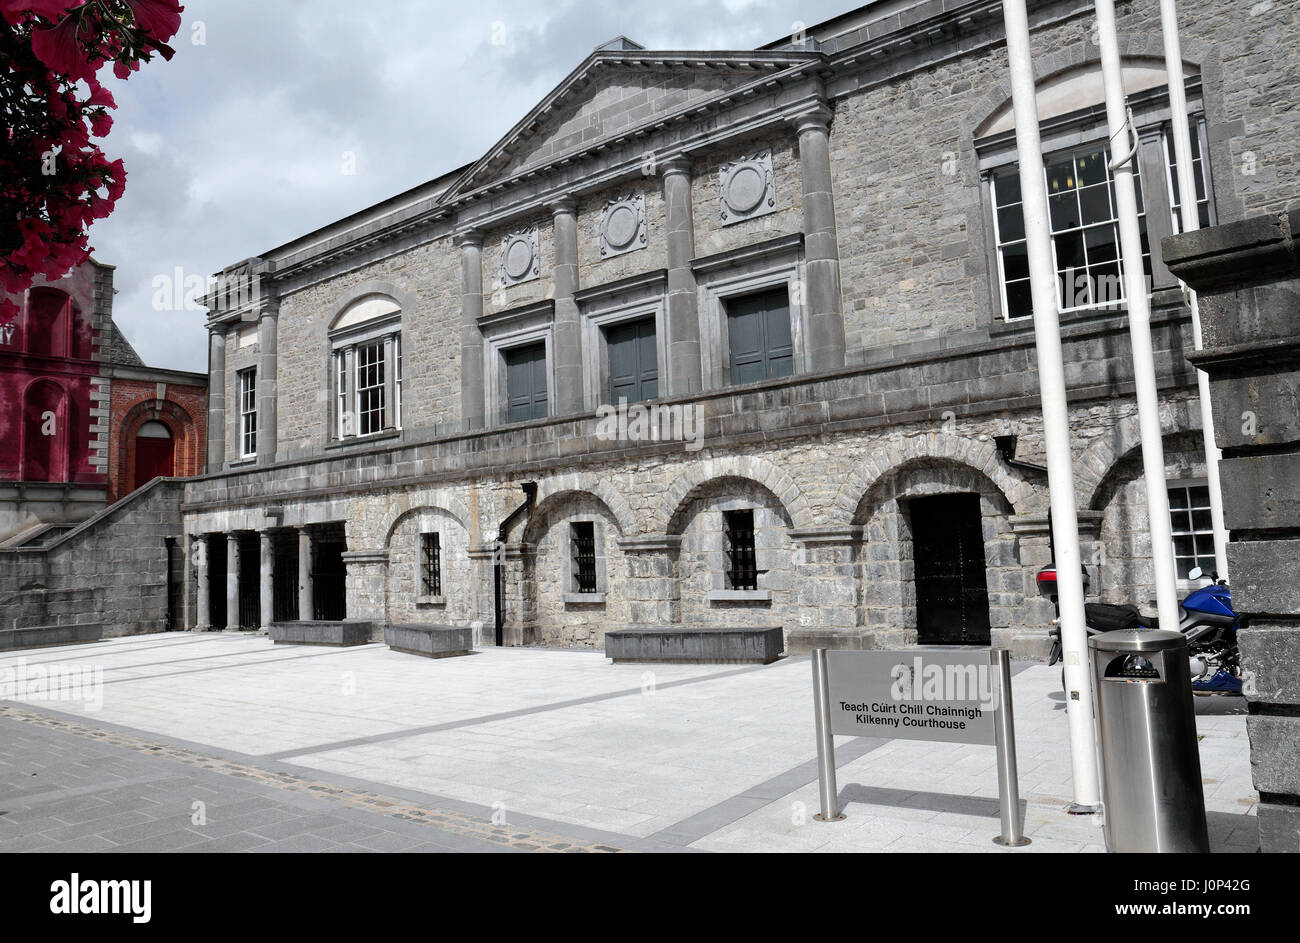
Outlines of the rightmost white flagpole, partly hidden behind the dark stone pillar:
[{"label": "rightmost white flagpole, partly hidden behind the dark stone pillar", "polygon": [[[1178,7],[1174,0],[1160,0],[1160,29],[1165,35],[1165,72],[1169,74],[1169,112],[1174,120],[1174,168],[1178,173],[1178,193],[1182,196],[1179,232],[1200,229],[1201,215],[1196,206],[1196,179],[1192,174],[1192,135],[1187,130],[1187,88],[1183,79],[1183,49],[1178,36]],[[1156,246],[1150,247],[1156,251]],[[1196,293],[1183,285],[1183,294],[1192,310],[1192,345],[1201,342],[1201,307]],[[1214,528],[1214,571],[1227,579],[1227,528],[1223,525],[1223,493],[1219,490],[1218,463],[1223,458],[1214,441],[1214,407],[1210,403],[1210,377],[1196,371],[1196,386],[1201,399],[1201,434],[1205,440],[1205,479],[1210,493],[1210,525]]]}]

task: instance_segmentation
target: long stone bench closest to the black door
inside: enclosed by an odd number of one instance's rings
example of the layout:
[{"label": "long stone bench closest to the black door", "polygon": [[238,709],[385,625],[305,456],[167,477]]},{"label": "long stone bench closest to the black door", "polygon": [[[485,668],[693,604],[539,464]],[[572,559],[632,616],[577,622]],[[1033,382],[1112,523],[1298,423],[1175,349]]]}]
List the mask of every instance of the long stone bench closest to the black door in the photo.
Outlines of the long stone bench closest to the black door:
[{"label": "long stone bench closest to the black door", "polygon": [[625,662],[768,665],[785,650],[780,626],[625,626],[604,633],[604,657]]}]

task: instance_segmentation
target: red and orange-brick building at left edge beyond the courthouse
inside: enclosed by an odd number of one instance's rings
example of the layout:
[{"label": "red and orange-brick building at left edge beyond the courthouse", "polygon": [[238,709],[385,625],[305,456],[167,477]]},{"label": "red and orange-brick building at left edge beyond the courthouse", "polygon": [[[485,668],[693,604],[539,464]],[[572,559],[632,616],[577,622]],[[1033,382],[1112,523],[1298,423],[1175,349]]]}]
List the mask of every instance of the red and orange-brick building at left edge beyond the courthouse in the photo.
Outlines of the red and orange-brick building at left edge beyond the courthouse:
[{"label": "red and orange-brick building at left edge beyond the courthouse", "polygon": [[113,267],[38,282],[0,324],[0,541],[44,540],[155,476],[203,471],[207,375],[147,367],[113,323]]}]

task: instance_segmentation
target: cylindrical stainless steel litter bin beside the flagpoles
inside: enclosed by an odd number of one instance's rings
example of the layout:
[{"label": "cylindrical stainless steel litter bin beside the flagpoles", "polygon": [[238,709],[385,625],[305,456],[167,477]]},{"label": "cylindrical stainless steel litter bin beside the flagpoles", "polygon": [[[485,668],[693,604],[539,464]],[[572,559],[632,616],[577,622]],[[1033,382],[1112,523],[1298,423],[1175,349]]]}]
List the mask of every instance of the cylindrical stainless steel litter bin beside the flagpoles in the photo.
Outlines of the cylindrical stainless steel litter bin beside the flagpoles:
[{"label": "cylindrical stainless steel litter bin beside the flagpoles", "polygon": [[1088,639],[1106,848],[1209,852],[1187,640],[1124,628]]}]

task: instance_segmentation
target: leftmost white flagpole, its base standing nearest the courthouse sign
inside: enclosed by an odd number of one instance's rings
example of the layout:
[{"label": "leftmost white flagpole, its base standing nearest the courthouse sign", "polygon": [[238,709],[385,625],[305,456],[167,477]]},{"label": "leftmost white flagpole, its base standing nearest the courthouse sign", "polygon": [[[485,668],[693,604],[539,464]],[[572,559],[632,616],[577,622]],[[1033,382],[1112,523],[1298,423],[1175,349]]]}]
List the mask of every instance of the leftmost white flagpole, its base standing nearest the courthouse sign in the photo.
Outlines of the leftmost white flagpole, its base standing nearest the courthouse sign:
[{"label": "leftmost white flagpole, its base standing nearest the courthouse sign", "polygon": [[1056,549],[1057,597],[1061,606],[1061,646],[1065,657],[1066,710],[1070,721],[1070,761],[1074,774],[1074,813],[1100,805],[1096,731],[1092,723],[1092,679],[1088,676],[1088,637],[1083,613],[1083,559],[1074,496],[1074,457],[1066,411],[1061,316],[1057,308],[1052,230],[1048,226],[1046,174],[1039,134],[1039,105],[1030,53],[1030,21],[1024,0],[1002,0],[1006,55],[1011,68],[1015,148],[1020,163],[1020,200],[1030,254],[1034,298],[1034,337],[1043,399],[1043,437],[1048,457],[1052,501],[1052,542]]}]

